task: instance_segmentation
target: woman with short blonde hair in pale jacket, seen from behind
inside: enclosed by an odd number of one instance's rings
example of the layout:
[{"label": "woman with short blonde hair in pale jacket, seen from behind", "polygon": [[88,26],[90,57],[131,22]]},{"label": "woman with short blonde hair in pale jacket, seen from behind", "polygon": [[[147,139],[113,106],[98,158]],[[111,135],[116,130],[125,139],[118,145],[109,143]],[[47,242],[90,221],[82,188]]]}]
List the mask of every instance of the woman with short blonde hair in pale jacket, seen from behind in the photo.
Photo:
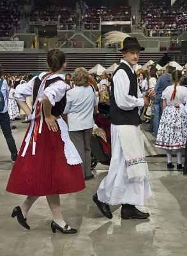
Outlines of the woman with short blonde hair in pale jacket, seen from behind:
[{"label": "woman with short blonde hair in pale jacket, seen from behind", "polygon": [[93,179],[91,173],[91,134],[94,127],[93,114],[97,113],[97,100],[93,86],[89,85],[86,68],[76,68],[72,77],[75,87],[67,92],[64,114],[68,116],[70,139],[82,159],[86,180]]}]

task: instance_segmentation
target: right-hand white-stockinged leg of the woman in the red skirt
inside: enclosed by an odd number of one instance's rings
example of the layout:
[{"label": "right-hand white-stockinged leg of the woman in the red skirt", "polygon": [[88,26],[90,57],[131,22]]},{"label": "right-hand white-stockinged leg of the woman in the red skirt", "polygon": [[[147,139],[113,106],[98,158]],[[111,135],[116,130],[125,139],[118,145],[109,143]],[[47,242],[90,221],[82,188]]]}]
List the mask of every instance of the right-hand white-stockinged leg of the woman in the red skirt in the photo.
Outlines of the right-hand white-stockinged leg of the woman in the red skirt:
[{"label": "right-hand white-stockinged leg of the woman in the red skirt", "polygon": [[47,202],[50,207],[50,211],[52,212],[53,220],[57,223],[57,225],[59,225],[60,227],[63,228],[66,225],[66,222],[64,221],[63,215],[61,212],[60,196],[59,195],[49,195],[49,196],[46,196],[46,198],[47,198]]}]

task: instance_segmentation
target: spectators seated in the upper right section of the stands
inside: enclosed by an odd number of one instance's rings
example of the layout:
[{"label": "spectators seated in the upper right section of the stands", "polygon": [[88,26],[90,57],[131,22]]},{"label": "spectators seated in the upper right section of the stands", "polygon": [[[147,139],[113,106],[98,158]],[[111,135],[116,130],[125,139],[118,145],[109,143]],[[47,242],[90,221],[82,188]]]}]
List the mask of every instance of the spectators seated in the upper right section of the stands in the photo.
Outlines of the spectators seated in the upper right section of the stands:
[{"label": "spectators seated in the upper right section of the stands", "polygon": [[179,36],[187,24],[187,4],[171,6],[170,0],[141,0],[140,15],[140,26],[149,29],[148,36]]}]

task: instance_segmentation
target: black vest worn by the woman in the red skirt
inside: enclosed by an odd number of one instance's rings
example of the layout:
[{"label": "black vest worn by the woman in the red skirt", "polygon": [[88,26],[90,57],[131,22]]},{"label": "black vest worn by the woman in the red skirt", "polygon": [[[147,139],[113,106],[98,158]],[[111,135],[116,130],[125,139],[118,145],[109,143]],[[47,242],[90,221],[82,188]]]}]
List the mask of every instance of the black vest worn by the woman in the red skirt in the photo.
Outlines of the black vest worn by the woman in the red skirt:
[{"label": "black vest worn by the woman in the red skirt", "polygon": [[[61,79],[61,77],[55,77],[53,79],[46,81],[45,88],[47,88],[50,84],[55,83],[58,80],[64,81],[63,79]],[[40,88],[40,84],[41,84],[41,80],[38,77],[36,77],[36,79],[34,80],[34,86],[33,86],[33,104],[38,95],[38,90]],[[52,106],[52,109],[51,109],[52,115],[54,115],[54,116],[62,115],[64,112],[65,106],[66,106],[66,93],[65,93],[63,99],[61,99],[59,102],[56,102],[55,106]]]}]

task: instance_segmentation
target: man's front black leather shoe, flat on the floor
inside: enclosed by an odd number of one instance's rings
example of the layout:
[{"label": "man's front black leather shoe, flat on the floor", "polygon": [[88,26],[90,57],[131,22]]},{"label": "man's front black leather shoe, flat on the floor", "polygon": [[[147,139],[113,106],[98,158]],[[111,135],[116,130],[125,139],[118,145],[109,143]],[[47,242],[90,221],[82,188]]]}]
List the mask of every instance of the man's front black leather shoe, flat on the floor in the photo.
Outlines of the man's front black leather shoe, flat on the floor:
[{"label": "man's front black leather shoe, flat on the floor", "polygon": [[128,219],[146,219],[150,215],[146,212],[139,211],[135,205],[123,204],[121,207],[121,218],[123,220]]}]

